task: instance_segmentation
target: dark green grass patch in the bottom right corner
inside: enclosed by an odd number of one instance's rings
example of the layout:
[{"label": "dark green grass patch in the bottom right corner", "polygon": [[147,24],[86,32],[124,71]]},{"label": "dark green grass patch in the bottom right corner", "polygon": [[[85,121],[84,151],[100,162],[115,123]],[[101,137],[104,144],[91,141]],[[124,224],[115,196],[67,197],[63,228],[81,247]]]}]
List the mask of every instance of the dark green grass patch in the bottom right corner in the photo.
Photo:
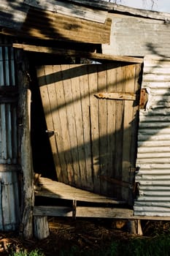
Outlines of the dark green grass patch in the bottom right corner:
[{"label": "dark green grass patch in the bottom right corner", "polygon": [[72,247],[61,252],[59,256],[169,256],[170,234],[155,238],[131,238],[126,241],[113,241],[109,246],[100,250],[83,250]]}]

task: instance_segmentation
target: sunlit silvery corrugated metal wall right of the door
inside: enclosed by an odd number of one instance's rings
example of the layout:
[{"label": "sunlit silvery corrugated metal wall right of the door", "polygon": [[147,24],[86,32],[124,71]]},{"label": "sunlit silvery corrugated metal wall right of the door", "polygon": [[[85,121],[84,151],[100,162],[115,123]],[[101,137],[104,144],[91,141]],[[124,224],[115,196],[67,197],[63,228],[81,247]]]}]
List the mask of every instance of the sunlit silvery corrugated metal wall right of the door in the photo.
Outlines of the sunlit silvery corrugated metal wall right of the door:
[{"label": "sunlit silvery corrugated metal wall right of the door", "polygon": [[139,115],[134,214],[170,217],[170,59],[144,58],[142,88],[149,100]]}]

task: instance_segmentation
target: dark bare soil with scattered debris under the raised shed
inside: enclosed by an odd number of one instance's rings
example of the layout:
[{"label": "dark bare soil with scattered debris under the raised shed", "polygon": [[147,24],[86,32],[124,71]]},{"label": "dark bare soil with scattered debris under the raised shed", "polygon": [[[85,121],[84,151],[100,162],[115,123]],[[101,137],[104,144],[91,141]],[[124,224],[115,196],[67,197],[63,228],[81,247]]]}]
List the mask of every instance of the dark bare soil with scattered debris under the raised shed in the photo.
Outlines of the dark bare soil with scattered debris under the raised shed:
[{"label": "dark bare soil with scattered debris under the raised shed", "polygon": [[[18,233],[0,233],[0,255],[10,255],[21,249],[39,249],[45,255],[58,255],[77,246],[80,252],[109,246],[112,241],[131,239],[128,223],[106,219],[49,219],[50,236],[42,241],[20,238]],[[169,232],[170,222],[142,222],[143,237]],[[101,247],[102,246],[102,247]]]}]

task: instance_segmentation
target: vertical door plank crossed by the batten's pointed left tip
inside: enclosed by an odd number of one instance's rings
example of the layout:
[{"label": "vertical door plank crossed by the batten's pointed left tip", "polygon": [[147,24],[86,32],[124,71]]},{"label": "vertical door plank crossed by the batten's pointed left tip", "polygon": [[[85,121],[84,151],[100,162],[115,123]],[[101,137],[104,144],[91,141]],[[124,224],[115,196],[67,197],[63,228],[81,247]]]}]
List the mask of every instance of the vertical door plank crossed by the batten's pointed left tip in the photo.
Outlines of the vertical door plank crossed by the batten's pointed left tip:
[{"label": "vertical door plank crossed by the batten's pointed left tip", "polygon": [[[106,65],[98,65],[98,92],[107,91]],[[100,175],[107,176],[107,99],[98,101],[98,135]],[[101,178],[101,194],[107,195],[107,181]]]}]

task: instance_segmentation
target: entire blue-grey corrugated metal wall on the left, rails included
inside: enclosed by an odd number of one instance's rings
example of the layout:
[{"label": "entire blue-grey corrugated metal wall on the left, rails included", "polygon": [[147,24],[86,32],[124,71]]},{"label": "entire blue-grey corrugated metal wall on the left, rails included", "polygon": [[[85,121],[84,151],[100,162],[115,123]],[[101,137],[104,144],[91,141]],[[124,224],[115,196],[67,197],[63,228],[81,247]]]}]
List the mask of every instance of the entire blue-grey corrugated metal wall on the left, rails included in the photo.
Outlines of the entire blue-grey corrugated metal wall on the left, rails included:
[{"label": "entire blue-grey corrugated metal wall on the left, rails included", "polygon": [[17,83],[15,54],[0,38],[0,230],[15,230],[19,219]]}]

